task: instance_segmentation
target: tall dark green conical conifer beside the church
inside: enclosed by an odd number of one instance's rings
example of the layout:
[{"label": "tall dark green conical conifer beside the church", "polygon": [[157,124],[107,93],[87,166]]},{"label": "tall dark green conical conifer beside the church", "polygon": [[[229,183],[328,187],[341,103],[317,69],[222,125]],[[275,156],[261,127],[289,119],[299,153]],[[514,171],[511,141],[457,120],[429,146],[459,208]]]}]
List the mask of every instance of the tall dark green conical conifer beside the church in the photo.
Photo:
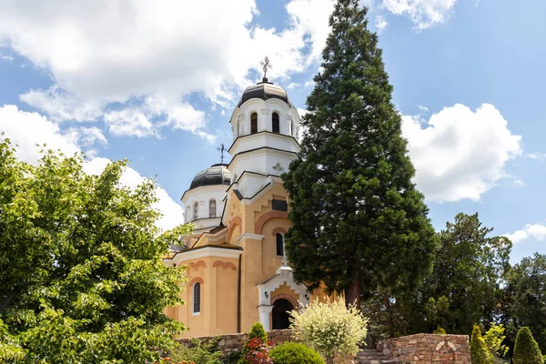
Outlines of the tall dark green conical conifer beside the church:
[{"label": "tall dark green conical conifer beside the church", "polygon": [[288,258],[310,288],[346,302],[416,287],[430,271],[434,230],[391,103],[367,8],[339,0],[323,69],[307,100],[301,154],[283,176],[291,198]]}]

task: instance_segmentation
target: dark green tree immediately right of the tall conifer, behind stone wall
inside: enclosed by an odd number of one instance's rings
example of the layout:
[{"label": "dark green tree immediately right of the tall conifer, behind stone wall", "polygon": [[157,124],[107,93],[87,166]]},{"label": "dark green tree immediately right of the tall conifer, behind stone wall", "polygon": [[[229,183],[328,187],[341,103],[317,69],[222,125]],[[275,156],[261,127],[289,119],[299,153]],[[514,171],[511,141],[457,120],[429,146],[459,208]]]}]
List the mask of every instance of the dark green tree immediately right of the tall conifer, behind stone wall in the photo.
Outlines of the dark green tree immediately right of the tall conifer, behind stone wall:
[{"label": "dark green tree immediately right of the tall conifer, behind stone wall", "polygon": [[[510,269],[511,241],[491,231],[478,214],[458,214],[438,233],[432,274],[406,301],[415,329],[431,332],[440,325],[452,334],[468,335],[474,322],[494,322],[501,308],[501,283]],[[415,315],[419,312],[421,316]]]}]

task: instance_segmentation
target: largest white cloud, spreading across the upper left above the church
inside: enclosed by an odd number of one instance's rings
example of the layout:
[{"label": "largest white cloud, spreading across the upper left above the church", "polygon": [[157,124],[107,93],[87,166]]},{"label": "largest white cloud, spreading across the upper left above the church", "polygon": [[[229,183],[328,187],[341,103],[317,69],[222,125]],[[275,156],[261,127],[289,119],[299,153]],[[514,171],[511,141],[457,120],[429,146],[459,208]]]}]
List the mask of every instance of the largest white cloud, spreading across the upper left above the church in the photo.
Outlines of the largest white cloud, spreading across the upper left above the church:
[{"label": "largest white cloud, spreading across the upper left above the church", "polygon": [[[55,86],[21,99],[53,121],[95,120],[116,106],[129,111],[110,115],[114,134],[157,135],[157,127],[169,126],[209,140],[205,117],[187,96],[197,92],[229,106],[266,55],[273,80],[304,71],[319,59],[332,5],[291,0],[288,27],[278,31],[250,25],[258,12],[254,0],[7,0],[0,9],[0,41],[52,76]],[[160,124],[150,119],[150,108],[131,105],[157,95],[168,100],[162,113],[167,122]]]}]

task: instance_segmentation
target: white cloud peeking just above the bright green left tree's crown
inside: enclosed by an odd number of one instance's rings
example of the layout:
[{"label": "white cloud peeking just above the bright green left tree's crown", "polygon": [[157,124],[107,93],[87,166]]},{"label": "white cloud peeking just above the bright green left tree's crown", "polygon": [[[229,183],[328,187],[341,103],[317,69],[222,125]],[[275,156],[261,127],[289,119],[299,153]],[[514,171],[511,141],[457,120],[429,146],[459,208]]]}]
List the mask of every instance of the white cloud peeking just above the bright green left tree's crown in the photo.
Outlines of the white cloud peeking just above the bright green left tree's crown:
[{"label": "white cloud peeking just above the bright green left tree's crown", "polygon": [[[70,128],[63,132],[58,124],[49,121],[45,116],[38,113],[29,113],[19,110],[15,105],[0,107],[0,132],[8,137],[14,144],[17,144],[16,157],[31,164],[35,164],[40,158],[40,149],[59,149],[67,156],[74,155],[81,151],[80,147],[89,146],[96,142],[106,143],[106,138],[96,127]],[[36,146],[37,145],[37,146]],[[84,166],[86,173],[98,174],[109,159],[94,157]],[[127,167],[120,182],[134,188],[143,177],[135,169]],[[157,226],[163,229],[175,227],[182,223],[182,207],[178,205],[167,191],[157,187],[159,201],[156,207],[164,215],[157,221]]]}]

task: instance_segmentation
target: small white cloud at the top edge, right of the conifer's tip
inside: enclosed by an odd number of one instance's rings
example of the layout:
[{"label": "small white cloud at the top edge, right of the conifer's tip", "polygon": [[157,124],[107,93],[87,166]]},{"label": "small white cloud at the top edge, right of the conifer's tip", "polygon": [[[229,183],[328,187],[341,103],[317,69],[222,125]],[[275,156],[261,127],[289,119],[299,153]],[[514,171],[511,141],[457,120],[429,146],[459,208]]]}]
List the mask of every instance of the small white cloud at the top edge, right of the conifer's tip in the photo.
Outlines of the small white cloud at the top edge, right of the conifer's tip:
[{"label": "small white cloud at the top edge, right of the conifer's tip", "polygon": [[392,14],[407,15],[417,29],[444,23],[457,0],[383,0],[383,7]]}]

